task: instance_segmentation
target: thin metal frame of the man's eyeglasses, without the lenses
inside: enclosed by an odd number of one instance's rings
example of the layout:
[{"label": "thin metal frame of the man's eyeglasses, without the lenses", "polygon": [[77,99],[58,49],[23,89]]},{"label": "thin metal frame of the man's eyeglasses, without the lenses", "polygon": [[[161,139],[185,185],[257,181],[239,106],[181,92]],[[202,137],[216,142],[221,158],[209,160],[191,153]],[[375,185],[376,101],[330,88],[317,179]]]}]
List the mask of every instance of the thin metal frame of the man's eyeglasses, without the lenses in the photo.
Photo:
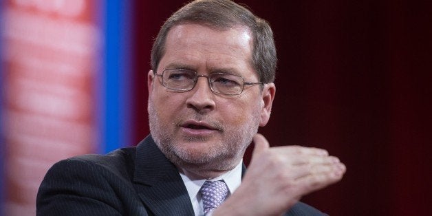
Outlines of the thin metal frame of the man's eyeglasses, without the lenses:
[{"label": "thin metal frame of the man's eyeglasses, without the lenses", "polygon": [[[177,70],[183,70],[183,71],[189,71],[189,72],[193,72],[193,73],[195,74],[195,76],[194,76],[194,78],[193,78],[193,86],[192,86],[190,89],[173,89],[173,88],[171,88],[171,87],[167,87],[167,86],[165,85],[165,83],[164,83],[164,72],[167,71],[167,70],[174,70],[174,69],[177,69]],[[164,69],[164,70],[162,71],[162,74],[158,74],[157,72],[155,72],[154,74],[155,74],[155,76],[158,76],[158,77],[162,78],[162,82],[161,82],[161,83],[162,83],[162,85],[163,85],[164,87],[166,87],[167,89],[171,89],[171,90],[174,90],[174,91],[178,91],[178,92],[191,91],[191,90],[192,90],[193,88],[195,88],[195,86],[197,85],[197,83],[198,83],[198,78],[199,78],[199,77],[205,77],[205,78],[207,78],[208,87],[210,87],[210,90],[211,90],[213,93],[216,93],[216,94],[224,94],[224,95],[228,95],[228,96],[240,95],[241,93],[243,93],[243,91],[244,91],[244,86],[245,86],[245,85],[263,85],[263,84],[264,84],[263,82],[256,82],[256,83],[254,83],[254,82],[246,82],[246,81],[244,80],[244,77],[243,77],[243,76],[239,76],[239,75],[237,75],[237,74],[230,74],[230,73],[224,73],[224,72],[213,73],[213,74],[226,74],[226,75],[230,75],[230,76],[237,76],[237,77],[241,78],[241,80],[243,80],[243,85],[241,85],[241,91],[240,91],[238,94],[225,94],[225,93],[222,93],[222,92],[215,91],[215,89],[213,89],[213,85],[212,85],[212,83],[210,82],[210,77],[209,77],[209,76],[211,76],[212,74],[210,74],[210,75],[202,75],[202,74],[198,74],[197,72],[195,72],[195,71],[192,70],[192,69],[184,69],[184,68],[166,68],[166,69]]]}]

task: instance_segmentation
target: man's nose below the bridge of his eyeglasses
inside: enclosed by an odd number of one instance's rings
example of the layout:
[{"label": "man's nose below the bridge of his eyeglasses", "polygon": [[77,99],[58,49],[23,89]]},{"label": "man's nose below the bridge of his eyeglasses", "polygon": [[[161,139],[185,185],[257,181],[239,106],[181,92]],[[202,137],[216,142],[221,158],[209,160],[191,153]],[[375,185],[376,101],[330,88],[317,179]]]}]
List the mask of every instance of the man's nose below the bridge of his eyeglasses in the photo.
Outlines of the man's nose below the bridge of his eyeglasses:
[{"label": "man's nose below the bridge of his eyeglasses", "polygon": [[203,76],[197,77],[195,87],[190,91],[186,100],[186,107],[195,109],[198,112],[206,112],[215,109],[214,94],[208,85],[208,79]]}]

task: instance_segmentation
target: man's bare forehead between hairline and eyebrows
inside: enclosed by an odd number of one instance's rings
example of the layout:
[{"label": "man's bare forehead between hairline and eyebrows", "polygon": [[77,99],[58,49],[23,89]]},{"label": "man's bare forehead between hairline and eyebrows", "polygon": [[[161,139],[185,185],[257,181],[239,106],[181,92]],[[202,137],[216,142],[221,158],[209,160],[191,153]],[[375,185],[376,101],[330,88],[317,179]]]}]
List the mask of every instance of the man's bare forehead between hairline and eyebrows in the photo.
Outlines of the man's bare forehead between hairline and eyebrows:
[{"label": "man's bare forehead between hairline and eyebrows", "polygon": [[252,37],[248,28],[238,25],[220,30],[206,25],[185,23],[169,31],[161,69],[166,66],[241,67],[252,69]]}]

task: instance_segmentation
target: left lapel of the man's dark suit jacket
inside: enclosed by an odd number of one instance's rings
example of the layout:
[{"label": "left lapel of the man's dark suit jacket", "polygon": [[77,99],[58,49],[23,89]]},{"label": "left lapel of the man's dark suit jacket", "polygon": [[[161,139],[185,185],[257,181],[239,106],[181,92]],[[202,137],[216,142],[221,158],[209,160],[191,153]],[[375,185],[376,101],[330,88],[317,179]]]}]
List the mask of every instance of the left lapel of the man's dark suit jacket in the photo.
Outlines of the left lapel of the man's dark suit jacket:
[{"label": "left lapel of the man's dark suit jacket", "polygon": [[151,136],[138,144],[133,181],[142,202],[155,215],[194,215],[182,177]]}]

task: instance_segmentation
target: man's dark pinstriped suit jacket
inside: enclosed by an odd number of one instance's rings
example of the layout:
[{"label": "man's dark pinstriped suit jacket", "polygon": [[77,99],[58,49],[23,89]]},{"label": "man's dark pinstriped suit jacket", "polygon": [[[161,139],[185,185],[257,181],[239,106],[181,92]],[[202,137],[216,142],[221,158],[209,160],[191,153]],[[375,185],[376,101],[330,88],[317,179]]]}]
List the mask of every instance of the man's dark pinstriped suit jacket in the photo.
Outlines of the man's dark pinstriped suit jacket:
[{"label": "man's dark pinstriped suit jacket", "polygon": [[[54,164],[36,207],[36,215],[194,215],[180,174],[151,136],[137,147]],[[322,215],[301,202],[287,214]]]}]

